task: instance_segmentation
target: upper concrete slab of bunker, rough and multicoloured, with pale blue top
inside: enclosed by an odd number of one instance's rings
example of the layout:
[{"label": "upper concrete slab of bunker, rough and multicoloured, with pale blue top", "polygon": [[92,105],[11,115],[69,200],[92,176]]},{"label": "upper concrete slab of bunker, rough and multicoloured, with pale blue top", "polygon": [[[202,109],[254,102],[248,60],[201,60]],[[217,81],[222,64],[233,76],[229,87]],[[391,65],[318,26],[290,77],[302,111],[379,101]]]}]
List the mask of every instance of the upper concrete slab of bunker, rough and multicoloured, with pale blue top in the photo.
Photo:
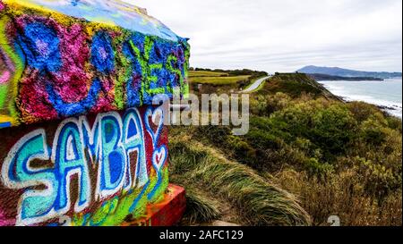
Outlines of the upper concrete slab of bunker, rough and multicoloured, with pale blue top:
[{"label": "upper concrete slab of bunker, rough and multicoloured, with pale blue top", "polygon": [[189,46],[120,1],[0,0],[0,128],[188,92]]}]

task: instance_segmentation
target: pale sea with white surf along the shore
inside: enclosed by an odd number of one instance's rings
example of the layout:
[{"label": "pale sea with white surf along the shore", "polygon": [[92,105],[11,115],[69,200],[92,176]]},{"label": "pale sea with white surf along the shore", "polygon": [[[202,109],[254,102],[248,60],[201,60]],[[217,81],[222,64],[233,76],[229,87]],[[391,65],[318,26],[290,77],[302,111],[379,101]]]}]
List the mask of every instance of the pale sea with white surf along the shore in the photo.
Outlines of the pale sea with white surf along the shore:
[{"label": "pale sea with white surf along the shore", "polygon": [[402,118],[402,80],[319,81],[336,96],[347,101],[364,101],[385,107],[389,114]]}]

